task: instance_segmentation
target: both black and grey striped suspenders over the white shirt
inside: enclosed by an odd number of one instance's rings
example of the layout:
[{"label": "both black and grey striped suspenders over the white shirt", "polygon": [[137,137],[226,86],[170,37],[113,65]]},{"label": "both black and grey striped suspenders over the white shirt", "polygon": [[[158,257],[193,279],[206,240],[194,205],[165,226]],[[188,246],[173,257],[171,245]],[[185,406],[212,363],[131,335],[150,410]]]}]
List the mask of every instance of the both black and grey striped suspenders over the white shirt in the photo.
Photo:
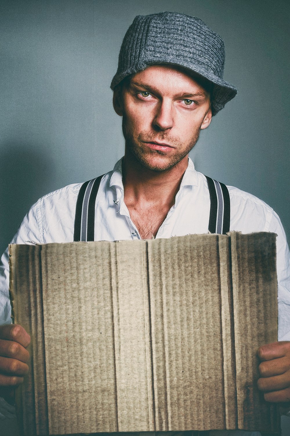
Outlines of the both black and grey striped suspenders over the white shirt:
[{"label": "both black and grey striped suspenders over the white shirt", "polygon": [[[85,182],[77,197],[74,221],[74,241],[93,241],[95,229],[95,203],[103,176]],[[205,176],[207,177],[207,176]],[[226,185],[207,177],[210,191],[210,233],[226,234],[230,231],[230,196]]]}]

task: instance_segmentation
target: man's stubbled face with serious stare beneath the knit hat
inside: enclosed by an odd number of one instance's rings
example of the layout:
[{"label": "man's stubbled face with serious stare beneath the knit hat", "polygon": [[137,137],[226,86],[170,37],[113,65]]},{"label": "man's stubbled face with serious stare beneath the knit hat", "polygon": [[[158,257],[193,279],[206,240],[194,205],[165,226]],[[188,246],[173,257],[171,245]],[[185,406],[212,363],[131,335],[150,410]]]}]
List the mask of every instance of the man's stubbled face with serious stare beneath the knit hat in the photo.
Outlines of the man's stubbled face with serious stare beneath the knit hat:
[{"label": "man's stubbled face with serious stare beneath the knit hat", "polygon": [[150,170],[168,170],[184,160],[200,129],[211,120],[210,96],[178,69],[152,65],[136,73],[114,108],[123,116],[125,156]]}]

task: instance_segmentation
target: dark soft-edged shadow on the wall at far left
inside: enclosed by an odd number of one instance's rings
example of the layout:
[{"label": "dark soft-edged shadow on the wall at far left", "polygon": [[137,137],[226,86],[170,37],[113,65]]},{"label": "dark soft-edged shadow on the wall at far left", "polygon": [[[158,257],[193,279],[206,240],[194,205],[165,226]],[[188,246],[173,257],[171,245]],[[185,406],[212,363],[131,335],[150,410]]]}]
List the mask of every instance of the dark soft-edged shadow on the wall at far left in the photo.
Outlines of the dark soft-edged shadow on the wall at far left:
[{"label": "dark soft-edged shadow on the wall at far left", "polygon": [[43,144],[10,141],[0,145],[0,256],[38,198],[54,179]]}]

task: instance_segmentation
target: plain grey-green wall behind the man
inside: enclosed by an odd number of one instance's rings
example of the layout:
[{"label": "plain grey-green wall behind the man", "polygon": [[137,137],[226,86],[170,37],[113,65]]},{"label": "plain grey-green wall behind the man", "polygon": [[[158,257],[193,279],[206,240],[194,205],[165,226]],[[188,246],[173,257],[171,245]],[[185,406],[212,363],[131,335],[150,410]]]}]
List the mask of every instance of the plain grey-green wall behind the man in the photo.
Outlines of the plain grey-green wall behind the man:
[{"label": "plain grey-green wall behind the man", "polygon": [[[111,78],[127,27],[162,10],[202,18],[239,89],[191,153],[198,170],[270,204],[290,236],[289,6],[277,0],[0,1],[0,251],[41,195],[123,155]],[[284,424],[289,434],[289,421]],[[12,431],[12,430],[11,430]],[[12,433],[11,433],[12,434]]]}]

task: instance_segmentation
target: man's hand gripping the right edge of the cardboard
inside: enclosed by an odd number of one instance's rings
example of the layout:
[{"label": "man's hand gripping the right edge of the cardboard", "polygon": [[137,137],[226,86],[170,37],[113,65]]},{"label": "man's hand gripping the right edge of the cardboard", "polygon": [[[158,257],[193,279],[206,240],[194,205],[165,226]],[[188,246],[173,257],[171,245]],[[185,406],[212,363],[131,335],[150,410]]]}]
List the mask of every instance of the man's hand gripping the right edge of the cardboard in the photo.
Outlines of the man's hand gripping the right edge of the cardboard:
[{"label": "man's hand gripping the right edge of the cardboard", "polygon": [[269,402],[290,401],[290,341],[273,342],[258,350],[262,361],[258,388]]}]

